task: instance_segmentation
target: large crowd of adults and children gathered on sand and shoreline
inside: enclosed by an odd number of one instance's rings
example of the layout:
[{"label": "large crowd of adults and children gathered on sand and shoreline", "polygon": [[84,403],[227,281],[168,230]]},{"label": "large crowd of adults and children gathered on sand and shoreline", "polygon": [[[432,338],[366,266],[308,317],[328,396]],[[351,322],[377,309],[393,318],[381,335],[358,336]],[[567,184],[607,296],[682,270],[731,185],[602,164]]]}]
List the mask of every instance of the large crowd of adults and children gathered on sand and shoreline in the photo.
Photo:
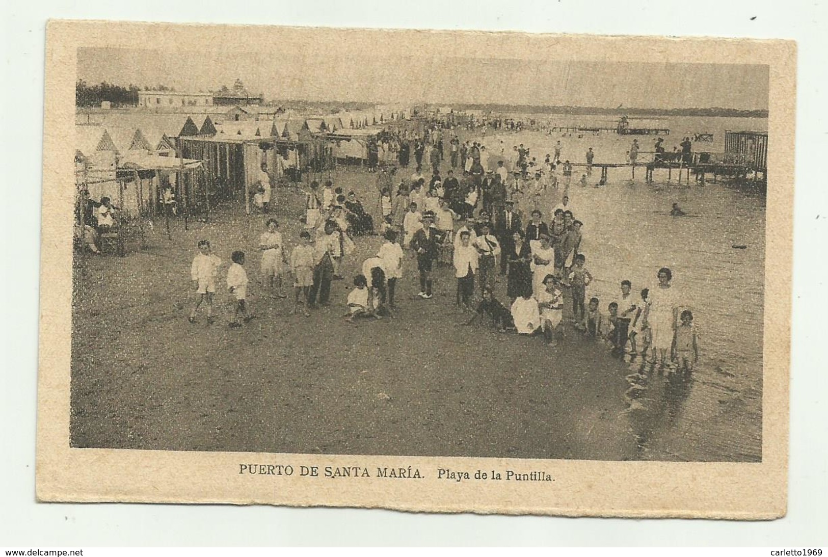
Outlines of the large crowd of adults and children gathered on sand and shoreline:
[{"label": "large crowd of adults and children gathered on sand and shoreline", "polygon": [[[467,324],[490,322],[498,331],[538,335],[555,345],[563,339],[568,299],[571,328],[606,343],[614,353],[633,358],[652,354],[652,361],[667,366],[677,361],[692,369],[698,358],[693,316],[690,310],[679,312],[682,300],[672,287],[670,269],[659,270],[657,286],[643,289],[639,297],[633,295],[631,282],[622,280],[618,294],[604,300],[609,303],[595,296],[587,300],[593,276],[581,251],[583,223],[569,205],[570,181],[566,175],[562,185],[557,180],[561,170],[571,174],[568,161],[561,162],[560,142],[554,154],[538,162],[522,144],[512,150],[497,146],[492,159],[484,158],[489,150],[482,142],[450,137],[443,164],[443,137],[435,129],[414,138],[416,166],[409,180],[399,178],[399,169],[378,171],[379,223],[355,192],[344,194],[330,181],[321,188],[313,182],[306,191],[304,228],[289,254],[277,220],[267,219],[258,247],[262,283],[271,295],[287,296],[282,284],[287,266],[293,276],[293,313],[308,316],[316,307],[330,305],[331,284],[344,279],[343,262],[354,253],[358,237],[381,234],[382,246],[358,265],[360,272],[353,277],[345,314],[350,322],[393,317],[397,282],[413,260],[419,283],[413,298],[431,300],[435,274],[441,266],[451,269],[455,303],[471,315]],[[431,166],[428,178],[422,175],[424,160]],[[492,161],[496,166],[490,166]],[[448,166],[445,178],[441,166]],[[551,214],[547,222],[542,193],[550,187],[562,189],[562,195],[561,203],[546,211]],[[528,221],[518,205],[529,209]],[[190,321],[195,322],[206,303],[211,322],[220,262],[209,242],[198,247],[191,278],[199,297]],[[251,317],[248,279],[243,252],[233,252],[232,261],[227,287],[237,305],[230,325],[238,327]]]}]

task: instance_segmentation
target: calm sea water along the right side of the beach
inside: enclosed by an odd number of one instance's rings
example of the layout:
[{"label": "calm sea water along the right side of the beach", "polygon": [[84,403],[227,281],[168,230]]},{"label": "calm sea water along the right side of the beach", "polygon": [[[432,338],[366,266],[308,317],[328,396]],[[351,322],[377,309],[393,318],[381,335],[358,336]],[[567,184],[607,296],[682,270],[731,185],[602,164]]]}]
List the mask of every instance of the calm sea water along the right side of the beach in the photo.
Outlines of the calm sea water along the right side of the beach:
[{"label": "calm sea water along the right side of the beach", "polygon": [[[724,151],[724,130],[766,130],[755,118],[676,118],[666,121],[668,150],[684,135],[714,133],[715,142],[696,143],[695,150]],[[542,132],[488,134],[492,151],[500,139],[511,146],[523,142],[543,160],[561,140],[561,158],[583,162],[588,146],[595,161],[622,162],[630,137],[614,133],[585,137],[549,136]],[[638,137],[643,151],[653,137]],[[497,154],[495,153],[495,156]],[[639,159],[641,160],[641,159]],[[633,293],[657,284],[659,267],[673,271],[673,287],[693,311],[700,343],[700,363],[690,381],[659,375],[631,364],[627,392],[630,409],[623,420],[638,441],[642,459],[760,460],[762,435],[764,199],[724,185],[667,183],[667,171],[656,171],[656,183],[643,183],[643,169],[631,180],[629,168],[609,169],[609,183],[595,188],[570,186],[570,206],[584,222],[582,251],[595,276],[587,297],[601,308],[619,295],[619,282],[633,282]],[[561,177],[559,176],[559,179]],[[559,194],[541,202],[545,214]],[[689,215],[672,218],[678,203]],[[524,203],[524,211],[531,210]],[[745,249],[734,249],[744,245]]]}]

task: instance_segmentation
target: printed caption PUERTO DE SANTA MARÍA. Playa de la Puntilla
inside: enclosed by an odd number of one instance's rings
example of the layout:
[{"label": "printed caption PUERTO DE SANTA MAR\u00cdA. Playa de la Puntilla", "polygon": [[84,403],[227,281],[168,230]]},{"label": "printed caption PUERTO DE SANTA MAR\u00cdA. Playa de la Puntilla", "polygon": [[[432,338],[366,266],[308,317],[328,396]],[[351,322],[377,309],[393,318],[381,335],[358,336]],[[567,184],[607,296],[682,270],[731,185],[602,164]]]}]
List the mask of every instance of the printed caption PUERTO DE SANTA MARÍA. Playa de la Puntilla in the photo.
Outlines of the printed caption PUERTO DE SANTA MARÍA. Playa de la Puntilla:
[{"label": "printed caption PUERTO DE SANTA MAR\u00cdA. Playa de la Puntilla", "polygon": [[[299,476],[301,478],[389,478],[424,479],[426,473],[412,466],[373,467],[366,466],[292,466],[291,464],[239,464],[238,473],[258,476]],[[516,472],[514,470],[454,470],[436,468],[431,478],[453,482],[474,480],[507,480],[517,482],[554,482],[550,473],[542,470]]]}]

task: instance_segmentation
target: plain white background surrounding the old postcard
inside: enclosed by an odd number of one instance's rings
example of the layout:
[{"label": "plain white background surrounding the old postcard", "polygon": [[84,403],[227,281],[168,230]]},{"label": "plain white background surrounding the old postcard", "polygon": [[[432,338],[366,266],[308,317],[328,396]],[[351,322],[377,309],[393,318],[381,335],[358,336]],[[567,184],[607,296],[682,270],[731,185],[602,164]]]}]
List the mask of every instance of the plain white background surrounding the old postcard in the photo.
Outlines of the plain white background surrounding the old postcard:
[{"label": "plain white background surrounding the old postcard", "polygon": [[[8,2],[3,10],[0,547],[826,545],[826,2]],[[509,4],[509,5],[508,5]],[[799,46],[789,510],[773,522],[36,504],[37,288],[46,18],[794,39]],[[755,17],[755,19],[751,19]],[[738,86],[738,84],[734,84]],[[773,207],[768,207],[772,211]],[[48,288],[48,285],[41,285]]]}]

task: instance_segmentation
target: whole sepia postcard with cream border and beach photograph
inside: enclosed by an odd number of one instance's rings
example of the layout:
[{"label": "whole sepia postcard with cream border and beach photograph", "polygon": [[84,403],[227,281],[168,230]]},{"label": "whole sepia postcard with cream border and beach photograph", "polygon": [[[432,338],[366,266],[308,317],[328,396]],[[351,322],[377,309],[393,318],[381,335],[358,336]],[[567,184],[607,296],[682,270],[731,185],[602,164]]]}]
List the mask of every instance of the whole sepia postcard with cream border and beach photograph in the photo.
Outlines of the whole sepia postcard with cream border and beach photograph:
[{"label": "whole sepia postcard with cream border and beach photograph", "polygon": [[39,500],[785,514],[791,41],[46,54]]}]

